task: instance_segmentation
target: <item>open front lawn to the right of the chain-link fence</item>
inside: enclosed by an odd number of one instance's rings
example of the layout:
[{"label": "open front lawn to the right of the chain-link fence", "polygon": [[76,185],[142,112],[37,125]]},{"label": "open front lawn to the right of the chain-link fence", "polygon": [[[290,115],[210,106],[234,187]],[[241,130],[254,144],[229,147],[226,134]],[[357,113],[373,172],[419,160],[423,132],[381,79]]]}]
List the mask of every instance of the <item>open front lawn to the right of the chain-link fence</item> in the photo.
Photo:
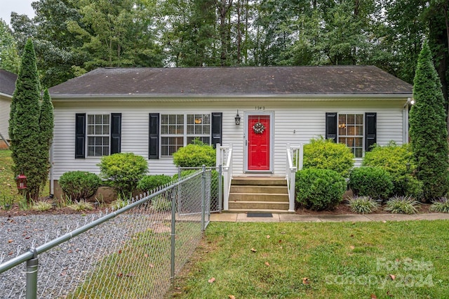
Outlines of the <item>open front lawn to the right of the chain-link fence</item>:
[{"label": "open front lawn to the right of the chain-link fence", "polygon": [[167,297],[445,298],[448,241],[445,220],[212,222]]}]

